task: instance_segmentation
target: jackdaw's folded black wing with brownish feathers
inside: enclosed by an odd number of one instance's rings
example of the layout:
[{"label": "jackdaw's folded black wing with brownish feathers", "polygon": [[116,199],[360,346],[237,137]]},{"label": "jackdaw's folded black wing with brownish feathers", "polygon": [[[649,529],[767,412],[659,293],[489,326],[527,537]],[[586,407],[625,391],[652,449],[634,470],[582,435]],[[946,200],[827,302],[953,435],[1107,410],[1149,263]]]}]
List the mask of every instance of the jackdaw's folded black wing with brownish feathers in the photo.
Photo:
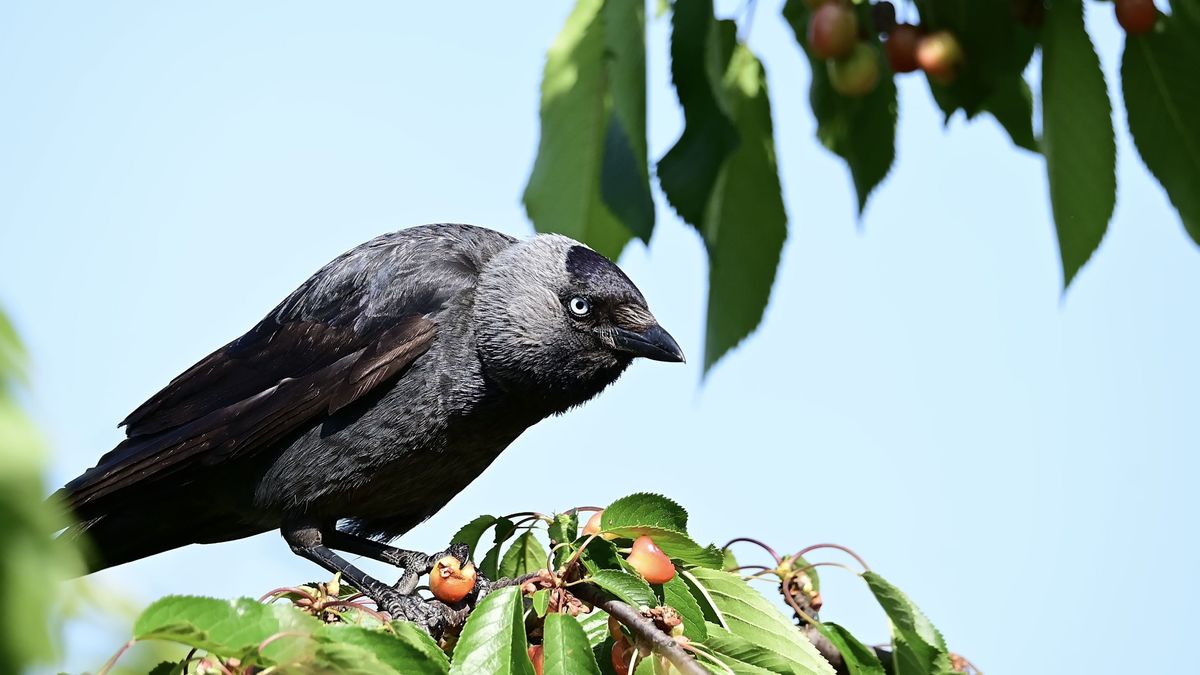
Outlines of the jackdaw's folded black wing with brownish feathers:
[{"label": "jackdaw's folded black wing with brownish feathers", "polygon": [[425,226],[344,253],[133,411],[128,437],[64,488],[67,504],[86,516],[125,488],[270,447],[346,407],[425,353],[438,315],[511,241]]}]

